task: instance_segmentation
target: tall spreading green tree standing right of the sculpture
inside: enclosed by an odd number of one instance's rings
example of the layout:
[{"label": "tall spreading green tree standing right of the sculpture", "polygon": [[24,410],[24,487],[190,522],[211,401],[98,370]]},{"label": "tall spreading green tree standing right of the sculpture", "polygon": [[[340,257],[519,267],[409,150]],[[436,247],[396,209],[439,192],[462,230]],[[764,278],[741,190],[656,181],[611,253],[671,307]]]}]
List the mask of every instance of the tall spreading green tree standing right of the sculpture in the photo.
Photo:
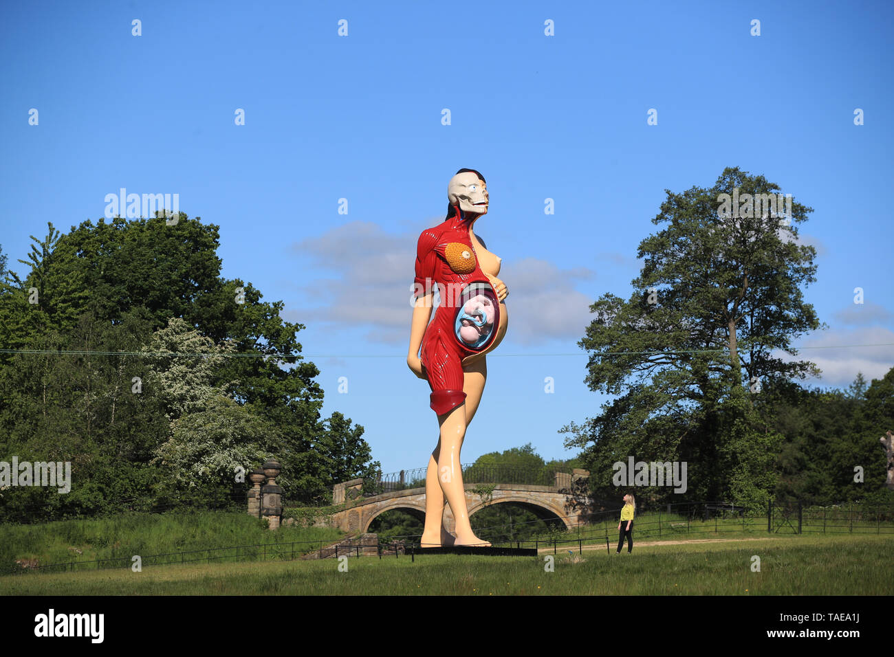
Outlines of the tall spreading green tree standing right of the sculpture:
[{"label": "tall spreading green tree standing right of the sculpture", "polygon": [[[755,397],[818,374],[771,351],[796,356],[792,341],[821,325],[801,291],[815,280],[815,249],[797,243],[795,225],[813,209],[792,201],[782,217],[766,203],[778,190],[738,168],[710,189],[665,190],[653,223],[668,225],[640,243],[635,291],[627,301],[606,293],[590,307],[595,319],[578,342],[590,352],[585,382],[620,397],[561,433],[571,434],[567,446],[586,448],[603,488],[611,464],[635,456],[687,460],[691,496],[769,494],[772,476],[746,484],[772,469],[781,439]],[[740,205],[724,206],[723,194]]]}]

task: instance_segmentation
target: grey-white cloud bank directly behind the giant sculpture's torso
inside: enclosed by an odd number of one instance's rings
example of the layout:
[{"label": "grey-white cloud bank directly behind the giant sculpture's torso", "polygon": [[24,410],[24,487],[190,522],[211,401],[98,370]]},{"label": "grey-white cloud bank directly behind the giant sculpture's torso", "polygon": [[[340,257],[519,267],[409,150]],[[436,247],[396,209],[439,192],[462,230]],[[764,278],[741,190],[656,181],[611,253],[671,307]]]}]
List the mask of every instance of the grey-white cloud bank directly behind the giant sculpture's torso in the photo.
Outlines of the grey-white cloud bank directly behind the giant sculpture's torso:
[{"label": "grey-white cloud bank directly behind the giant sculpture's torso", "polygon": [[[437,223],[431,219],[409,232],[389,233],[377,223],[355,221],[293,244],[292,253],[313,281],[299,283],[301,303],[283,311],[283,317],[335,330],[368,328],[368,341],[406,343],[417,239]],[[337,275],[320,278],[315,269]],[[584,266],[563,270],[538,258],[516,263],[504,258],[500,278],[510,291],[506,340],[524,345],[579,340],[590,322],[593,299],[575,291],[574,284],[594,275]]]}]

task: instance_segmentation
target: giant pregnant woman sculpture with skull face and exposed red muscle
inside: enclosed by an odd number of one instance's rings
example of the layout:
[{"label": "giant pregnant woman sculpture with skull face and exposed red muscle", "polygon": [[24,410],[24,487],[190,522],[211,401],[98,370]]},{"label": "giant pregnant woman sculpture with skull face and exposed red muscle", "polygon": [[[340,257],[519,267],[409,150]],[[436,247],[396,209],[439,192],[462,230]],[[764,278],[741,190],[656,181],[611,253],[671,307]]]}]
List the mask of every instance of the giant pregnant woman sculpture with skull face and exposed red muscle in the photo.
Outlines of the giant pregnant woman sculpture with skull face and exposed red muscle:
[{"label": "giant pregnant woman sculpture with skull face and exposed red muscle", "polygon": [[[432,389],[431,408],[441,427],[426,470],[426,528],[421,543],[422,547],[487,546],[490,543],[479,539],[468,522],[460,449],[485,390],[485,354],[506,333],[503,300],[508,291],[496,277],[500,258],[472,230],[487,214],[484,176],[460,169],[447,186],[447,198],[450,205],[443,223],[419,235],[407,356],[409,368]],[[435,285],[441,302],[429,324]],[[443,528],[445,503],[456,521],[455,539]]]}]

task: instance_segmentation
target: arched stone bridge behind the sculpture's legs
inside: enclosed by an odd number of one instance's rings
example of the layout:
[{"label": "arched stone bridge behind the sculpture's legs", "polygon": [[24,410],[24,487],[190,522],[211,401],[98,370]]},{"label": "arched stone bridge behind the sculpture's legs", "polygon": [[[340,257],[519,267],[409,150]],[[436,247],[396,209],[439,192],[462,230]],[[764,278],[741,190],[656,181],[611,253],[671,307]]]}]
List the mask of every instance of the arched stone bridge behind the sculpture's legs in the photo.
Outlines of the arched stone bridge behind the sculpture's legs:
[{"label": "arched stone bridge behind the sculpture's legs", "polygon": [[[575,469],[572,473],[555,473],[552,485],[536,484],[465,484],[466,504],[469,517],[477,511],[493,504],[512,503],[532,511],[542,520],[561,520],[567,528],[584,525],[583,510],[590,500],[586,495],[575,493],[580,488],[581,479],[586,479],[586,470]],[[376,517],[385,511],[401,510],[425,522],[426,489],[408,488],[388,493],[380,493],[372,497],[363,497],[362,479],[355,479],[344,484],[336,484],[333,489],[333,501],[336,504],[348,503],[350,506],[333,514],[333,524],[343,531],[365,533]],[[493,486],[493,492],[488,493]],[[444,528],[451,534],[455,532],[456,522],[450,506],[444,508]]]}]

